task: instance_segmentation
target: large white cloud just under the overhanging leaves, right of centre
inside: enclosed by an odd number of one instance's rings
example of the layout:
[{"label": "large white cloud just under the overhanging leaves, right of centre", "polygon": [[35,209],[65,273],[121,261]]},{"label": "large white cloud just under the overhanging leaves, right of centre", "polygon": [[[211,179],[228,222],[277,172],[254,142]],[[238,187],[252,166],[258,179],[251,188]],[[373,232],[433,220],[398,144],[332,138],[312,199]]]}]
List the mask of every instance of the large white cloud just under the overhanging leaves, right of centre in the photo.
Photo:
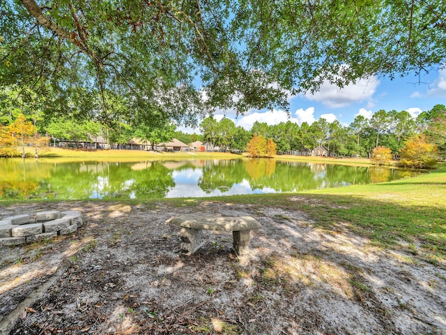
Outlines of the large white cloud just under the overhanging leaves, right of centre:
[{"label": "large white cloud just under the overhanging leaves, right of centre", "polygon": [[335,84],[324,81],[314,94],[305,94],[305,98],[318,101],[331,108],[339,108],[361,101],[371,101],[379,85],[377,77],[357,80],[354,84],[348,84],[339,89]]}]

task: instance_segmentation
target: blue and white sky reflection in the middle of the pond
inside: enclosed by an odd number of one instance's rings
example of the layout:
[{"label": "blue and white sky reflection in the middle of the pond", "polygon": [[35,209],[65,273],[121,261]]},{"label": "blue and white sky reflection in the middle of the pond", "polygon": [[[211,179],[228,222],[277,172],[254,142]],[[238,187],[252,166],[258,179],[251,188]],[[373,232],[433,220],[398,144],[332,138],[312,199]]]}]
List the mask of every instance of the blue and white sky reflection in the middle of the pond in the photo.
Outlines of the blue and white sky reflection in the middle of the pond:
[{"label": "blue and white sky reflection in the middle of the pond", "polygon": [[201,169],[185,169],[181,171],[173,171],[175,186],[170,188],[166,198],[186,198],[186,197],[217,197],[219,195],[238,195],[238,194],[261,194],[261,193],[276,193],[273,188],[264,187],[261,189],[252,190],[249,185],[249,180],[243,179],[241,183],[233,184],[228,191],[213,190],[208,193],[203,191],[198,182],[202,177],[203,171]]}]

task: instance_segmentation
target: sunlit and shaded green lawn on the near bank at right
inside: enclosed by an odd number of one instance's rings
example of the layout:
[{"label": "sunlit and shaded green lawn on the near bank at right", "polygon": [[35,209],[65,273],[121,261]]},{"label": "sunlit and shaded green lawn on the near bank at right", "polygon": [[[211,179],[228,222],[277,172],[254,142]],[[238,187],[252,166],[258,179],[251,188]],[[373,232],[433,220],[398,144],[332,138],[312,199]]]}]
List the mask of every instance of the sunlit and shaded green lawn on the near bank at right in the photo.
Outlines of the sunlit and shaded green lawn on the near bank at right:
[{"label": "sunlit and shaded green lawn on the near bank at right", "polygon": [[446,260],[446,165],[429,174],[383,184],[294,194],[242,195],[207,200],[303,211],[316,227],[351,231],[376,246],[399,246],[429,262]]}]

